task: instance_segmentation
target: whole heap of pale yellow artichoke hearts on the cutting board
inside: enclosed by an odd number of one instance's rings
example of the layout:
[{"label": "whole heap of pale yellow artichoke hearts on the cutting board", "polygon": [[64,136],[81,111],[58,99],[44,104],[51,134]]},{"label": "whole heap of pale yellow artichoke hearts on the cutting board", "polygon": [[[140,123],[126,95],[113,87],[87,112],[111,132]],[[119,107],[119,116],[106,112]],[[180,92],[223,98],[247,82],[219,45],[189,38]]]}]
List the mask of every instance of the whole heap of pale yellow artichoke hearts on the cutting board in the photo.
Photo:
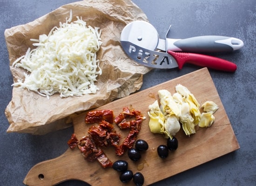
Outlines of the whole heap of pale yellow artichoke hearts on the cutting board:
[{"label": "whole heap of pale yellow artichoke hearts on the cutting board", "polygon": [[173,95],[168,90],[159,90],[158,100],[149,105],[149,128],[152,133],[162,133],[172,139],[182,129],[187,136],[196,133],[195,126],[209,127],[214,123],[213,114],[219,108],[213,101],[202,104],[206,113],[200,112],[200,104],[189,89],[181,84],[175,86]]}]

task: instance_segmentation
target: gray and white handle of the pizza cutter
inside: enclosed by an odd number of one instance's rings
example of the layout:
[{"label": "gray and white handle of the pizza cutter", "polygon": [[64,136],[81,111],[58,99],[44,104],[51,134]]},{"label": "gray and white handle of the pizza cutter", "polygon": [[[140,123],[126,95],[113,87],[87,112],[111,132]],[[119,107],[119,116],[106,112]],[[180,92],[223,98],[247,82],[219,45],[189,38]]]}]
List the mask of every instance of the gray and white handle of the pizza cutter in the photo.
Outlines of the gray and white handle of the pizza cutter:
[{"label": "gray and white handle of the pizza cutter", "polygon": [[166,39],[167,51],[191,53],[232,52],[243,47],[243,41],[237,38],[206,35],[187,39]]}]

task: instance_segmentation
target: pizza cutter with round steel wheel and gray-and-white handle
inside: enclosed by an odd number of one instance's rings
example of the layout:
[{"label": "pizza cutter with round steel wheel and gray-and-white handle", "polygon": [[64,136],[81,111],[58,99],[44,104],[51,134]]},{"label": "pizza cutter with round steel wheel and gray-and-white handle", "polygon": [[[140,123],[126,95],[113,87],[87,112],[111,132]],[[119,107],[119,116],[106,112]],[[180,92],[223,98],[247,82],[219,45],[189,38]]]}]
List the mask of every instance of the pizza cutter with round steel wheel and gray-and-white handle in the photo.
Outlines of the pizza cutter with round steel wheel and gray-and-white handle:
[{"label": "pizza cutter with round steel wheel and gray-and-white handle", "polygon": [[[168,32],[170,31],[170,27]],[[206,35],[187,39],[159,39],[159,35],[150,23],[136,20],[123,28],[121,41],[129,41],[142,48],[155,50],[160,49],[167,52],[232,52],[243,47],[243,41],[233,37]]]}]

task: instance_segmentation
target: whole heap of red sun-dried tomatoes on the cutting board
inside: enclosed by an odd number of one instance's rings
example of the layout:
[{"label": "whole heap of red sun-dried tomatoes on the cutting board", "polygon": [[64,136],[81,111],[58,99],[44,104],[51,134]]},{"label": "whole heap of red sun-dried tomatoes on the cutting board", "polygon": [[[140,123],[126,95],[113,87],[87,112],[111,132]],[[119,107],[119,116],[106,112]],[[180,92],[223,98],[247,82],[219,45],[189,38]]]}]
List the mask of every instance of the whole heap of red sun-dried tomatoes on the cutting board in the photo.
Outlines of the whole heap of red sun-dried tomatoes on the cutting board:
[{"label": "whole heap of red sun-dried tomatoes on the cutting board", "polygon": [[[141,112],[128,107],[123,107],[123,111],[115,118],[113,110],[95,110],[87,113],[86,123],[99,123],[98,126],[91,126],[88,130],[89,135],[83,137],[77,146],[82,156],[90,162],[98,160],[101,166],[111,167],[113,163],[108,159],[107,155],[98,146],[114,146],[115,153],[121,156],[127,149],[132,148],[141,130],[143,120]],[[130,129],[128,136],[121,145],[119,141],[121,135],[116,133],[112,123],[115,122],[120,129]],[[72,140],[70,140],[72,144]],[[74,140],[75,141],[75,140]],[[75,147],[75,146],[74,146]]]}]

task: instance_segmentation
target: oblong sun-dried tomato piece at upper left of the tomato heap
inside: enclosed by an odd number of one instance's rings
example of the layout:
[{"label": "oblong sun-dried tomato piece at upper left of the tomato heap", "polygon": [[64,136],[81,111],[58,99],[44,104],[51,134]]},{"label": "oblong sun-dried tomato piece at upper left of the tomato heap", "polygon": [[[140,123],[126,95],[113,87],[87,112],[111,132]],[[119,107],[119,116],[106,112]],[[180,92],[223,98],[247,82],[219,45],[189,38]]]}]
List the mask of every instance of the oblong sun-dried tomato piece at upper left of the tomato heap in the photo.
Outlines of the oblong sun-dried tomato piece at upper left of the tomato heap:
[{"label": "oblong sun-dried tomato piece at upper left of the tomato heap", "polygon": [[85,117],[85,123],[99,123],[102,120],[109,123],[114,122],[113,110],[94,110],[87,113]]}]

